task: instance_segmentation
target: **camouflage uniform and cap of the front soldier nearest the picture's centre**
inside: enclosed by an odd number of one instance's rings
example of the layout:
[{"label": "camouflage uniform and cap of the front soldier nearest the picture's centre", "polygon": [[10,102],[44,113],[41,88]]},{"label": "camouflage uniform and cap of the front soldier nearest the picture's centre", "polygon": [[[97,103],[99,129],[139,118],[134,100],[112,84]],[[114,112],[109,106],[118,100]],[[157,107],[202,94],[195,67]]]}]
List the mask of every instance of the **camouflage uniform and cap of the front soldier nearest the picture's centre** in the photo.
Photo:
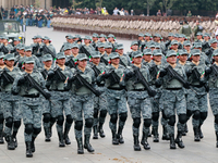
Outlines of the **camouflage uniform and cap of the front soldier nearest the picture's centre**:
[{"label": "camouflage uniform and cap of the front soldier nearest the picture's centre", "polygon": [[[110,59],[119,58],[119,54],[117,52],[113,52],[109,57]],[[100,83],[106,78],[106,76],[111,76],[110,72],[114,71],[114,74],[119,78],[121,78],[124,66],[119,64],[119,67],[116,68],[112,65],[106,66],[105,74],[100,75],[97,80]],[[119,86],[119,84],[112,84],[113,79],[112,77],[106,79],[106,87],[108,88],[106,90],[107,93],[107,101],[108,101],[108,113],[110,114],[110,123],[109,127],[112,133],[112,143],[118,145],[123,143],[123,137],[122,137],[122,130],[128,117],[128,108],[126,108],[126,95],[125,90]],[[112,84],[112,85],[111,85]],[[117,120],[118,115],[120,116],[119,120],[119,128],[117,131]]]}]

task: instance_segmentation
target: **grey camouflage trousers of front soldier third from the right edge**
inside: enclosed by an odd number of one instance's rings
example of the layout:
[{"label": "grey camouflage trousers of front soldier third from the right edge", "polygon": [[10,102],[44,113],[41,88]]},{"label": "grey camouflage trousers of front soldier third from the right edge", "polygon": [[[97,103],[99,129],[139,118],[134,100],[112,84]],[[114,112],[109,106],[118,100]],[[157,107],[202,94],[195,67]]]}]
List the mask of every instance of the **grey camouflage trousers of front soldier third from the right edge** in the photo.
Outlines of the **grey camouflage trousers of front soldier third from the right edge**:
[{"label": "grey camouflage trousers of front soldier third from the right edge", "polygon": [[[162,95],[160,98],[160,108],[164,110],[167,118],[171,116],[185,114],[186,115],[186,101],[184,96],[184,90],[167,90],[162,89]],[[185,124],[178,122],[178,131],[183,131]],[[167,130],[169,134],[174,134],[174,126],[167,125]]]}]

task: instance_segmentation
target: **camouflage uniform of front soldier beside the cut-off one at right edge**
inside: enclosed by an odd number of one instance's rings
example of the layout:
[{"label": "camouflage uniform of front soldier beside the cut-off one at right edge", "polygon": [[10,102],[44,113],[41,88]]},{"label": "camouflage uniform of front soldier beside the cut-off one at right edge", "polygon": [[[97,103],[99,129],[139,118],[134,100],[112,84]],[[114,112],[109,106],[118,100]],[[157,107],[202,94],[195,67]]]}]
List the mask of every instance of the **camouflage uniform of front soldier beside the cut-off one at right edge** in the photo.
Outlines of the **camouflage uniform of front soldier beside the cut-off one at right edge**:
[{"label": "camouflage uniform of front soldier beside the cut-off one at right edge", "polygon": [[[198,49],[193,49],[191,51],[191,54],[197,55],[201,54],[201,51]],[[206,64],[199,62],[198,65],[195,65],[194,63],[190,62],[185,66],[185,71],[191,74],[189,75],[187,80],[191,84],[192,89],[195,90],[187,91],[187,110],[192,111],[193,113],[192,125],[195,136],[194,139],[195,141],[199,141],[199,138],[203,138],[201,126],[207,117],[208,103],[206,86],[203,85],[202,82],[196,78],[195,74],[193,73],[194,68],[196,68],[198,74],[202,75],[205,73]]]}]

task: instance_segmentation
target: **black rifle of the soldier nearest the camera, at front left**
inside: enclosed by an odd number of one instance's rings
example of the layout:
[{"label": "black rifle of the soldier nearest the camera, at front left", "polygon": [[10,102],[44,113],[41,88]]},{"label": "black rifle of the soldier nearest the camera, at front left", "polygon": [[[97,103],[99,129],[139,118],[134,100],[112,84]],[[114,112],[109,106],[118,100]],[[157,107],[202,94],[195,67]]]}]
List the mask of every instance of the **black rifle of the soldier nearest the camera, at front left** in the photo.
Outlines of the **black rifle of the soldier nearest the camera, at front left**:
[{"label": "black rifle of the soldier nearest the camera, at front left", "polygon": [[[26,78],[26,80],[27,80],[27,83],[33,87],[33,88],[35,88],[36,90],[38,90],[46,99],[47,99],[47,93],[48,92],[46,92],[43,88],[41,88],[41,86],[29,75],[29,74],[27,74],[27,75],[25,75],[25,78]],[[48,99],[51,103],[52,103],[52,101],[50,100],[50,98]],[[53,103],[55,104],[55,103]]]}]

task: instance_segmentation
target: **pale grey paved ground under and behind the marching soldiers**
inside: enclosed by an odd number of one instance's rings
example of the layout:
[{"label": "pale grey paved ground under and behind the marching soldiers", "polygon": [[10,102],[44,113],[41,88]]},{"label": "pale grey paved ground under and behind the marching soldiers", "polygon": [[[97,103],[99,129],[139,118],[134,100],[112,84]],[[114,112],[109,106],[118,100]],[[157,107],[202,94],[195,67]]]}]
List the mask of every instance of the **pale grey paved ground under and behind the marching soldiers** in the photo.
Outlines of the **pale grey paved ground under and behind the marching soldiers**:
[{"label": "pale grey paved ground under and behind the marching soldiers", "polygon": [[[27,45],[32,43],[32,37],[34,35],[48,36],[52,39],[52,43],[59,50],[66,33],[53,32],[48,28],[27,28]],[[123,42],[124,48],[129,50],[131,41],[117,40]],[[125,51],[128,51],[125,50]],[[218,149],[215,148],[215,131],[214,131],[214,117],[209,110],[208,117],[203,125],[203,133],[205,138],[201,142],[194,142],[193,130],[191,121],[189,122],[190,133],[183,137],[185,143],[184,149],[170,150],[169,141],[153,142],[152,138],[148,139],[152,149],[145,151],[133,151],[133,138],[132,138],[132,120],[129,113],[129,118],[123,131],[124,145],[112,146],[111,134],[109,129],[109,117],[106,120],[105,133],[106,138],[99,138],[98,140],[90,140],[90,143],[95,148],[95,153],[88,153],[85,150],[85,154],[78,155],[76,153],[76,141],[74,138],[73,129],[70,131],[70,138],[72,143],[65,148],[58,147],[58,136],[56,128],[53,127],[53,136],[51,142],[44,141],[44,131],[40,133],[36,139],[36,152],[33,159],[25,158],[25,145],[24,145],[24,127],[22,125],[19,135],[19,148],[15,151],[7,150],[7,145],[0,145],[0,163],[71,163],[71,162],[158,162],[158,163],[210,163],[218,162]],[[142,125],[141,125],[142,126]],[[142,129],[141,129],[142,130]],[[159,128],[161,136],[161,128]]]}]

